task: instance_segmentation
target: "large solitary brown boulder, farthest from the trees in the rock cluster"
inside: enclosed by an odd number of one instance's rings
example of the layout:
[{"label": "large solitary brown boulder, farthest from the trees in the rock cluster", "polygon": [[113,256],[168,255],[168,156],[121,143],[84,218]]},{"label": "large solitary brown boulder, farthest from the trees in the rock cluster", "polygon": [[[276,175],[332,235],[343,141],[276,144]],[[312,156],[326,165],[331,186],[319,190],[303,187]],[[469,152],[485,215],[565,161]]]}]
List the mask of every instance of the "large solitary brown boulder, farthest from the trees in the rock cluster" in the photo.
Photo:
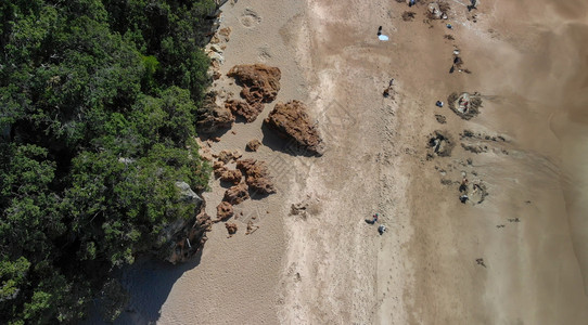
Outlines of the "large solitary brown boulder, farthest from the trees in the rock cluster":
[{"label": "large solitary brown boulder, farthest from the trees in the rock cluster", "polygon": [[[264,120],[268,128],[282,138],[292,140],[302,148],[302,155],[321,156],[324,148],[319,130],[306,113],[306,105],[299,101],[278,103]],[[294,152],[294,151],[293,151]]]}]

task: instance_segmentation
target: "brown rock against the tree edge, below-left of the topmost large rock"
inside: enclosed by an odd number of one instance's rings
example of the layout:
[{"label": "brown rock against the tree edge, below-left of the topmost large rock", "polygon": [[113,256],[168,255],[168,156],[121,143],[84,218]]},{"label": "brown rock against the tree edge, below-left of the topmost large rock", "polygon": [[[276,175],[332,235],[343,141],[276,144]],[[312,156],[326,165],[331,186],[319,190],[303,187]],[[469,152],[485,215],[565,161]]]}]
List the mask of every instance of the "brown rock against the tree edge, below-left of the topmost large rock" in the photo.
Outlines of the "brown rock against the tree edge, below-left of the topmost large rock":
[{"label": "brown rock against the tree edge, below-left of the topmost large rock", "polygon": [[209,92],[203,101],[196,116],[196,131],[214,133],[221,129],[230,128],[234,122],[231,110],[217,104],[216,92]]}]

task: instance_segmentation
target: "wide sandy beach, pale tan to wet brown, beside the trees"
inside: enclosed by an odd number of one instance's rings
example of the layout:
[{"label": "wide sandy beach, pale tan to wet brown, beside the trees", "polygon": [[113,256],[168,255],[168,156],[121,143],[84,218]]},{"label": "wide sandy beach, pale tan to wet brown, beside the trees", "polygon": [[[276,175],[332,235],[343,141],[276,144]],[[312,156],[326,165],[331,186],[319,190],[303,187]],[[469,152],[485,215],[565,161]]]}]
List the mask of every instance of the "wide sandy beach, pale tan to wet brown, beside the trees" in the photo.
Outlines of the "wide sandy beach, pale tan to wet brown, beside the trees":
[{"label": "wide sandy beach, pale tan to wet brown, beside the trees", "polygon": [[[209,150],[267,161],[278,192],[235,206],[238,233],[216,223],[193,261],[140,261],[119,323],[585,324],[588,4],[465,2],[447,1],[448,20],[424,2],[225,4],[215,89],[239,96],[234,65],[279,67],[274,103],[306,103],[325,151],[284,150],[261,126],[273,103],[220,134]],[[476,93],[480,114],[452,112],[453,92]],[[461,203],[464,178],[483,190]],[[225,188],[210,187],[215,216]]]}]

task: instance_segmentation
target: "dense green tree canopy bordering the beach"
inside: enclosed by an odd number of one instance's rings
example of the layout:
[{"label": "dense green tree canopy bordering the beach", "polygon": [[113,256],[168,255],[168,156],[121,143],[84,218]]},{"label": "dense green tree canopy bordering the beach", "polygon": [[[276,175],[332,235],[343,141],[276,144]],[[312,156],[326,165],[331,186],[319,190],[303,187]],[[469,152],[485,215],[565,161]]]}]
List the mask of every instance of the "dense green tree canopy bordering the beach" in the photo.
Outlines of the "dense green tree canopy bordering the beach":
[{"label": "dense green tree canopy bordering the beach", "polygon": [[79,320],[194,212],[212,0],[0,2],[0,324]]}]

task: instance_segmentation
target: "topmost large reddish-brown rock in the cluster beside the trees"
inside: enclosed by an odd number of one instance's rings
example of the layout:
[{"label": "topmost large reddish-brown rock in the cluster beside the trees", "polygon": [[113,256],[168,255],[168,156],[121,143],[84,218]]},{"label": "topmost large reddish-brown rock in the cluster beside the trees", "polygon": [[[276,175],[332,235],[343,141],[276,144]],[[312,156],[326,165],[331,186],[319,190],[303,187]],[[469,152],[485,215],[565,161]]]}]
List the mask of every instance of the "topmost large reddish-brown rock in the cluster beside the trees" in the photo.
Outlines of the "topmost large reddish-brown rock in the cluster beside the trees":
[{"label": "topmost large reddish-brown rock in the cluster beside the trees", "polygon": [[265,64],[243,64],[233,66],[227,76],[234,78],[237,83],[243,87],[241,96],[251,105],[276,100],[282,73],[279,68]]}]

